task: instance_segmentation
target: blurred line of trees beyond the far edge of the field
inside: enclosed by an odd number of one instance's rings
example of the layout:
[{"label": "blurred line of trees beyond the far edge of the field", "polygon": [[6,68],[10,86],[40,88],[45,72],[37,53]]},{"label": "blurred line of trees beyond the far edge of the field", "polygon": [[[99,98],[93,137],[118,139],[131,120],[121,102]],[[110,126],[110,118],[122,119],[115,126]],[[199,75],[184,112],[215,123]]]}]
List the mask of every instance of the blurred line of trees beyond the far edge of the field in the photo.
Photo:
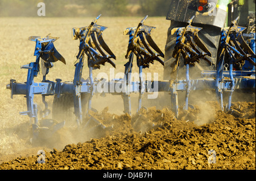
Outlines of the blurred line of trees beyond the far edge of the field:
[{"label": "blurred line of trees beyond the far edge of the field", "polygon": [[38,16],[39,2],[46,16],[166,16],[167,0],[0,0],[0,16]]}]

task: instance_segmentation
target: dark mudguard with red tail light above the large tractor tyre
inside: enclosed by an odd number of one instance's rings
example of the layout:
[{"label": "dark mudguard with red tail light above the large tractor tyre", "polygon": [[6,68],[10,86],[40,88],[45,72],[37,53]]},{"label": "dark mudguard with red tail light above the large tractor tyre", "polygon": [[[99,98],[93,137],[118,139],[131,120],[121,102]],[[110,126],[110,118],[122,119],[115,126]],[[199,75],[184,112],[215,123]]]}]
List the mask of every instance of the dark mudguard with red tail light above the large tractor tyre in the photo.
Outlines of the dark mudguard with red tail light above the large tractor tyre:
[{"label": "dark mudguard with red tail light above the large tractor tyre", "polygon": [[226,10],[217,7],[217,0],[208,0],[208,4],[199,11],[199,0],[172,0],[166,16],[167,20],[188,22],[195,15],[193,23],[208,24],[223,28],[226,23]]}]

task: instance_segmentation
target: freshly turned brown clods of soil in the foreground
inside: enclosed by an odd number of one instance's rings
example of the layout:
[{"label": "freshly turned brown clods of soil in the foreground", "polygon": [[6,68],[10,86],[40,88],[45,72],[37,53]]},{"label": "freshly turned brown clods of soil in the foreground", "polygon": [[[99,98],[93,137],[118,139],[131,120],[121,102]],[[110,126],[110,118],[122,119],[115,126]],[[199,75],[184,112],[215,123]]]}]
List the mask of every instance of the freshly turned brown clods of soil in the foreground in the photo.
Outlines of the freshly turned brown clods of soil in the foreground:
[{"label": "freshly turned brown clods of soil in the foreground", "polygon": [[0,169],[255,169],[255,103],[236,102],[229,112],[209,104],[215,113],[208,123],[199,107],[180,109],[179,119],[155,107],[134,116],[111,114],[108,108],[91,112],[107,128],[88,123],[90,132],[88,126],[80,133],[90,141],[44,150],[46,163],[38,163],[39,155],[20,156]]}]

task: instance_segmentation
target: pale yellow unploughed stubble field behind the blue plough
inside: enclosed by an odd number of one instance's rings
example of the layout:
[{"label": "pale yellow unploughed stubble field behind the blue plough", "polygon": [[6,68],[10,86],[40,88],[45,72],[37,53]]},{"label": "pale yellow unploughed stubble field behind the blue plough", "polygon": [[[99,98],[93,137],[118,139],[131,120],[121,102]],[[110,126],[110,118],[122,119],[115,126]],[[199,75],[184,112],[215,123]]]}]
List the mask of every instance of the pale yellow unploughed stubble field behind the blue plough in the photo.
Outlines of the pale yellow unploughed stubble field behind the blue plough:
[{"label": "pale yellow unploughed stubble field behind the blue plough", "polygon": [[[123,30],[127,27],[135,27],[143,17],[127,17],[127,18],[108,18],[101,16],[98,24],[107,26],[103,37],[106,43],[112,49],[117,57],[115,64],[117,68],[115,73],[124,71],[125,54],[127,50],[128,36],[123,35]],[[27,70],[20,69],[21,65],[35,61],[34,48],[35,43],[28,41],[29,36],[51,36],[60,37],[55,42],[56,49],[63,55],[67,65],[56,62],[54,67],[49,71],[47,79],[55,81],[61,78],[63,81],[72,81],[75,73],[74,62],[76,61],[76,53],[78,50],[79,40],[72,40],[72,28],[88,26],[94,19],[92,18],[0,18],[0,162],[1,155],[13,154],[29,147],[29,140],[26,140],[26,129],[30,123],[28,116],[19,115],[20,111],[26,111],[26,99],[22,95],[14,95],[14,99],[10,98],[10,90],[6,90],[6,85],[10,79],[16,79],[17,82],[26,82]],[[167,39],[167,30],[170,22],[165,17],[148,17],[145,24],[155,26],[152,32],[152,38],[158,44],[159,48],[164,52],[164,45]],[[109,73],[111,65],[106,64],[100,70],[95,70],[94,76],[99,72]],[[134,64],[134,72],[138,72],[136,64]],[[87,67],[83,71],[83,77],[88,77]],[[147,72],[158,72],[159,80],[163,78],[163,67],[158,62],[151,65],[151,69]],[[35,78],[36,82],[42,80],[42,74]],[[47,100],[51,101],[51,98]],[[39,106],[42,105],[39,100]],[[116,107],[121,106],[122,99],[115,100],[119,102]],[[104,100],[102,100],[104,102]],[[49,105],[51,106],[51,105]],[[100,108],[109,106],[108,102],[102,103]],[[113,112],[110,107],[110,112]],[[120,110],[118,110],[120,111]],[[37,150],[35,150],[36,154]]]}]

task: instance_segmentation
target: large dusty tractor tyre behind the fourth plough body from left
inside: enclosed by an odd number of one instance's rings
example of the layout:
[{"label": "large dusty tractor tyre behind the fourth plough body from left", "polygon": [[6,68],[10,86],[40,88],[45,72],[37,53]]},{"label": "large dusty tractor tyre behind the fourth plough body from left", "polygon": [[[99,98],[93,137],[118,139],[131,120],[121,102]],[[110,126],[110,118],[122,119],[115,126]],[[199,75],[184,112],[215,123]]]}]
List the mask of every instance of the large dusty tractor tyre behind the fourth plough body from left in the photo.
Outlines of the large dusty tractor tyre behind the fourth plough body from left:
[{"label": "large dusty tractor tyre behind the fourth plough body from left", "polygon": [[[172,52],[174,51],[174,47],[176,44],[176,34],[171,35],[171,30],[173,28],[185,27],[185,26],[186,26],[185,22],[171,21],[171,26],[168,29],[168,37],[166,41],[165,60],[164,60],[164,64],[165,64],[164,79],[165,80],[185,78],[185,66],[184,66],[183,57],[181,57],[181,60],[180,60],[178,76],[177,76],[177,70],[173,70],[173,68],[171,68],[171,64],[175,61],[175,58],[172,57]],[[209,26],[207,24],[197,24],[197,23],[194,23],[194,24],[192,23],[192,26],[203,28],[198,32],[198,36],[204,42],[205,46],[209,49],[209,51],[212,53],[212,57],[209,57],[209,59],[214,63],[214,65],[209,65],[206,61],[201,59],[200,64],[197,64],[195,67],[189,68],[190,78],[200,78],[202,70],[216,69],[216,58],[217,58],[217,50],[220,42],[221,28]]]}]

